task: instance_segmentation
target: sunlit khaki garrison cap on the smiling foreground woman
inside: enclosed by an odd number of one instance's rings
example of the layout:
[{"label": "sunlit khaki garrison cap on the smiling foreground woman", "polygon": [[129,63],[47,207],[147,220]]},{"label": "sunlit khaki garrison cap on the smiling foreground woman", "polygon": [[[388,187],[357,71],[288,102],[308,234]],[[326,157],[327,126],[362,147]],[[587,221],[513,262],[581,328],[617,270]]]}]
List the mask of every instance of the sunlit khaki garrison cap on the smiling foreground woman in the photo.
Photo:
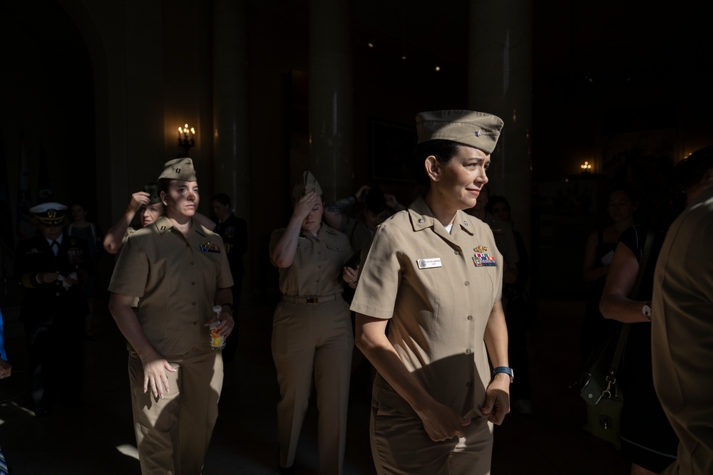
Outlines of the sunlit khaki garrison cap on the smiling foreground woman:
[{"label": "sunlit khaki garrison cap on the smiling foreground woman", "polygon": [[503,120],[473,110],[434,110],[416,115],[419,143],[428,140],[453,140],[488,154],[498,145]]}]

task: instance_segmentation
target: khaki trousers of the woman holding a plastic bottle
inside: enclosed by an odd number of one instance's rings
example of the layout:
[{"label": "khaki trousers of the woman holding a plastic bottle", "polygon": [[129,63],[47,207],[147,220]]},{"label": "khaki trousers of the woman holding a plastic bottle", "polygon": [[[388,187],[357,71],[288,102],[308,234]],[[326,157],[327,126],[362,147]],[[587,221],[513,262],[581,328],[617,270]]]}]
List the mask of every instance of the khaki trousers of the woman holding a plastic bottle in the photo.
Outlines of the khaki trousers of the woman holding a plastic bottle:
[{"label": "khaki trousers of the woman holding a plastic bottle", "polygon": [[195,347],[185,355],[164,356],[170,392],[163,399],[143,392],[143,365],[129,352],[129,382],[141,473],[200,475],[218,416],[223,381],[219,351]]}]

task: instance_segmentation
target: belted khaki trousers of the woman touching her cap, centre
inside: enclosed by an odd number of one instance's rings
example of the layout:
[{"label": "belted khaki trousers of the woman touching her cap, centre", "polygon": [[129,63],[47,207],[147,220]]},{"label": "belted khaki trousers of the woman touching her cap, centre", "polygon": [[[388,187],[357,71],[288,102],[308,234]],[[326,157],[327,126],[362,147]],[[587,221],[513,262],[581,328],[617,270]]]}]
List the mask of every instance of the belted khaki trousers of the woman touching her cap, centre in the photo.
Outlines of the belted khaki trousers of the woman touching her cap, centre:
[{"label": "belted khaki trousers of the woman touching her cap, centre", "polygon": [[280,395],[277,441],[284,466],[294,464],[314,373],[319,473],[342,474],[352,348],[349,306],[341,297],[314,305],[285,301],[278,304],[272,326],[272,357]]}]

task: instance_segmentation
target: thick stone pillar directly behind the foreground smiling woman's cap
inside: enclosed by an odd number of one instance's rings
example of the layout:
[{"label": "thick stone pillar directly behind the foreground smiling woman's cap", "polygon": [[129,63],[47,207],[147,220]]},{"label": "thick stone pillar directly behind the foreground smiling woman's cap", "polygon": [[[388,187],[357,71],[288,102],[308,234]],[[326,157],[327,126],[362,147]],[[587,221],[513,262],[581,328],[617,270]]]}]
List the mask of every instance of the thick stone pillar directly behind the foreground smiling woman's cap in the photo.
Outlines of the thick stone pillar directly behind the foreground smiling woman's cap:
[{"label": "thick stone pillar directly behind the foreground smiling woman's cap", "polygon": [[525,243],[532,189],[532,9],[531,0],[471,0],[469,9],[468,108],[505,122],[488,187],[510,202]]}]

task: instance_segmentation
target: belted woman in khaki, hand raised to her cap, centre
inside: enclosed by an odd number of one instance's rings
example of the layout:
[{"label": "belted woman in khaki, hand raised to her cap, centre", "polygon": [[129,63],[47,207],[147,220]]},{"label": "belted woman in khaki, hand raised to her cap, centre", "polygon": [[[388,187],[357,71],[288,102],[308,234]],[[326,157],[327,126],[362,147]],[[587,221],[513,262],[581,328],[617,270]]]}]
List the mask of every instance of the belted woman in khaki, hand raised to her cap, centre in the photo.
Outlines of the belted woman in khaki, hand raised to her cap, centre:
[{"label": "belted woman in khaki, hand raised to her cap, centre", "polygon": [[312,373],[319,410],[319,473],[342,474],[347,434],[352,320],[342,298],[342,268],[352,256],[347,236],[322,223],[322,189],[311,173],[295,187],[287,228],[270,239],[270,260],[279,268],[282,301],[272,323],[277,368],[277,440],[282,474],[294,458]]}]

